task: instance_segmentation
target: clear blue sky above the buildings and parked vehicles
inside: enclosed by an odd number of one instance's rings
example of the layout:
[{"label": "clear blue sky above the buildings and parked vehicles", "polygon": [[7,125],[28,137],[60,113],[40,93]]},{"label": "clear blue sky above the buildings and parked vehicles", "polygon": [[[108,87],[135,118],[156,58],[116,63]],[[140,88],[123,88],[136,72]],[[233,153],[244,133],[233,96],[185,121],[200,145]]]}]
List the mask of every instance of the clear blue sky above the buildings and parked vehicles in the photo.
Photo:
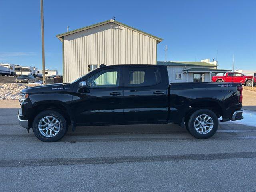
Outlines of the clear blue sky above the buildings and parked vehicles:
[{"label": "clear blue sky above the buildings and parked vehicles", "polygon": [[[164,40],[158,61],[215,58],[219,68],[256,70],[256,1],[44,0],[46,68],[62,74],[56,34],[111,19]],[[40,0],[0,0],[0,62],[42,66]]]}]

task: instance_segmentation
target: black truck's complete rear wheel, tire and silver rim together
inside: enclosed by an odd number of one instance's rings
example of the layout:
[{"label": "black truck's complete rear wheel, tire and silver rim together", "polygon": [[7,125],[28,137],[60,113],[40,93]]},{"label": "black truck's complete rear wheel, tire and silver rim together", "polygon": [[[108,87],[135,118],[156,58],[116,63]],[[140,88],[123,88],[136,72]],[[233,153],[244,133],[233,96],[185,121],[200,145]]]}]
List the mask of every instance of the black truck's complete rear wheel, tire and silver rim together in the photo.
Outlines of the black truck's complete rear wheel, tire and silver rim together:
[{"label": "black truck's complete rear wheel, tire and silver rim together", "polygon": [[208,139],[218,130],[216,114],[209,109],[195,111],[188,120],[188,132],[198,139]]}]

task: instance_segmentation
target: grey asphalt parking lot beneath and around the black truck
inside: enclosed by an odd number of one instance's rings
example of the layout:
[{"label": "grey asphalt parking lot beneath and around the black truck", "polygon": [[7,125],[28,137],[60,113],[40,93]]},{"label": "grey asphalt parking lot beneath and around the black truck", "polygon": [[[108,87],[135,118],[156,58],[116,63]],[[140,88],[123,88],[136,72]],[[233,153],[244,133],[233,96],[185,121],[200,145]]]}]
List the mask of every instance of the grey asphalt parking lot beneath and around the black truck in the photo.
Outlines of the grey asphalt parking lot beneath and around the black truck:
[{"label": "grey asphalt parking lot beneath and around the black truck", "polygon": [[174,124],[80,127],[44,143],[18,125],[18,107],[0,101],[0,191],[256,190],[253,125],[223,123],[208,140]]}]

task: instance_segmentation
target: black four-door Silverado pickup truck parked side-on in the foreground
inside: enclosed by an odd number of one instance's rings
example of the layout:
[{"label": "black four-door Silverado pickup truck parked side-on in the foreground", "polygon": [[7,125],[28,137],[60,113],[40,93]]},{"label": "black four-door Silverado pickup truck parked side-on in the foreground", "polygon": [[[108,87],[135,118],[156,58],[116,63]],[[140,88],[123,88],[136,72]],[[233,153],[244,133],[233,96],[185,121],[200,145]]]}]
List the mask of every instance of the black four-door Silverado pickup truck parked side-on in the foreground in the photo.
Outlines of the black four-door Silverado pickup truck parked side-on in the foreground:
[{"label": "black four-door Silverado pickup truck parked side-on in the foreground", "polygon": [[242,119],[242,84],[173,83],[166,66],[101,65],[72,83],[20,92],[20,126],[44,142],[60,140],[68,127],[179,124],[210,138],[222,121]]}]

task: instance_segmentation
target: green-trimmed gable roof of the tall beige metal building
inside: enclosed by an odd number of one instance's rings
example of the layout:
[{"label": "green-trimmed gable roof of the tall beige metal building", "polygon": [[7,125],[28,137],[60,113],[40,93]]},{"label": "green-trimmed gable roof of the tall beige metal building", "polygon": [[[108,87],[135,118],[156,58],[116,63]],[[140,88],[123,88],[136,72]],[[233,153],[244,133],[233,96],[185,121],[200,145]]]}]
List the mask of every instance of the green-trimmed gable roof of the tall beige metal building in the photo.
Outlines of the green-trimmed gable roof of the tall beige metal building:
[{"label": "green-trimmed gable roof of the tall beige metal building", "polygon": [[152,34],[149,34],[149,33],[146,33],[146,32],[144,32],[144,31],[138,30],[138,29],[136,29],[136,28],[133,28],[133,27],[131,27],[131,26],[128,26],[128,25],[126,25],[126,24],[123,24],[123,23],[118,22],[118,21],[113,20],[113,19],[106,20],[106,21],[103,21],[103,22],[100,22],[100,23],[96,23],[96,24],[93,24],[93,25],[90,25],[90,26],[83,27],[83,28],[79,28],[79,29],[76,29],[76,30],[72,30],[72,31],[69,31],[69,32],[66,32],[66,33],[58,34],[58,35],[56,35],[56,37],[57,37],[59,40],[62,41],[62,38],[63,38],[64,36],[67,36],[67,35],[70,35],[70,34],[74,34],[74,33],[80,32],[80,31],[88,30],[88,29],[90,29],[90,28],[98,27],[98,26],[101,26],[101,25],[104,25],[104,24],[108,24],[108,23],[114,23],[114,24],[123,26],[123,27],[125,27],[125,28],[128,28],[128,29],[130,29],[130,30],[136,31],[136,32],[138,32],[138,33],[140,33],[140,34],[144,34],[144,35],[146,35],[146,36],[149,36],[149,37],[151,37],[151,38],[153,38],[153,39],[156,39],[156,40],[157,40],[157,43],[160,43],[160,42],[163,40],[162,38],[159,38],[159,37],[154,36],[154,35],[152,35]]}]

